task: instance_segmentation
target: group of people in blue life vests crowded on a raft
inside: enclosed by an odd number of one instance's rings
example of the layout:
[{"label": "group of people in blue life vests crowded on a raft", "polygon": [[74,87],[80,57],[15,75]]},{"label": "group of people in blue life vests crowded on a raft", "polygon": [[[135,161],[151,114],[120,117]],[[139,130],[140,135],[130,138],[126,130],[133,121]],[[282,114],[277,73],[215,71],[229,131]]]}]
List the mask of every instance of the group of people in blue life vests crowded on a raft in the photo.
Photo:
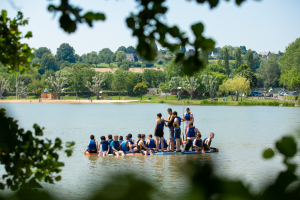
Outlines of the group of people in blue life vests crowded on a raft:
[{"label": "group of people in blue life vests crowded on a raft", "polygon": [[[168,108],[169,117],[167,120],[162,119],[162,114],[157,114],[157,120],[154,129],[153,139],[152,134],[147,136],[145,134],[138,134],[136,142],[132,139],[132,134],[125,136],[109,134],[108,140],[105,136],[101,136],[101,142],[97,142],[94,135],[90,136],[90,142],[88,149],[89,153],[98,154],[99,156],[107,156],[113,154],[116,156],[123,156],[126,153],[142,153],[143,155],[152,155],[153,152],[185,152],[192,148],[192,151],[197,153],[205,153],[206,150],[216,150],[217,148],[211,147],[214,133],[211,132],[209,137],[202,140],[200,131],[194,126],[194,117],[190,112],[190,109],[186,109],[186,113],[183,114],[183,118],[177,115],[177,112],[172,112],[171,108]],[[185,138],[183,141],[181,138],[181,122],[185,122]],[[167,143],[164,138],[164,127],[169,128],[169,141]],[[185,144],[185,146],[184,146]],[[101,149],[102,146],[102,149]],[[182,146],[183,150],[180,149]]]}]

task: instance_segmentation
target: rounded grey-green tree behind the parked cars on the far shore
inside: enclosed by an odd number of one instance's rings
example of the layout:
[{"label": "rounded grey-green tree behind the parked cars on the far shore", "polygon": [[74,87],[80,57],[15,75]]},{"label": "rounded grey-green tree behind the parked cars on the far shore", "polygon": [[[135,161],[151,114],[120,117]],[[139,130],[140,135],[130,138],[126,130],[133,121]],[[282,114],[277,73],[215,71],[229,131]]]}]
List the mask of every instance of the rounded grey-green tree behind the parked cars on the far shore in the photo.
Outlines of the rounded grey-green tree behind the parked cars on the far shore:
[{"label": "rounded grey-green tree behind the parked cars on the far shore", "polygon": [[280,66],[275,56],[270,55],[265,61],[262,61],[258,69],[258,73],[263,80],[265,87],[278,86],[280,77]]}]

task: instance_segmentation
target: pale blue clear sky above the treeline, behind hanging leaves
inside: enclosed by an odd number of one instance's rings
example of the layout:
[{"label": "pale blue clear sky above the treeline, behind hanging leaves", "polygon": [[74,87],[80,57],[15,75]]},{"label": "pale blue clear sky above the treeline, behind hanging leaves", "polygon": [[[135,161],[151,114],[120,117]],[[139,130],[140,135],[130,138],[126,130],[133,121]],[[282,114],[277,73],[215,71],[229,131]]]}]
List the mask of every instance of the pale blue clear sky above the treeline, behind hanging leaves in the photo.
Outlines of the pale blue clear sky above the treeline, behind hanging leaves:
[{"label": "pale blue clear sky above the treeline, behind hanging leaves", "polygon": [[[248,0],[238,7],[231,2],[220,0],[213,10],[208,4],[194,1],[168,0],[169,11],[166,22],[178,25],[191,36],[190,26],[196,22],[205,25],[204,35],[213,38],[217,45],[245,45],[247,49],[278,52],[300,37],[300,1],[299,0]],[[58,0],[13,0],[25,17],[30,18],[29,25],[22,30],[31,30],[33,38],[26,40],[31,47],[48,47],[55,54],[61,43],[69,43],[79,55],[91,51],[110,48],[116,51],[119,46],[135,46],[137,39],[131,36],[125,18],[130,12],[137,11],[135,0],[70,0],[80,5],[84,11],[99,11],[106,14],[105,22],[96,22],[93,28],[79,25],[76,33],[67,34],[46,8],[49,3]],[[1,9],[7,9],[13,17],[16,10],[8,0],[0,0]]]}]

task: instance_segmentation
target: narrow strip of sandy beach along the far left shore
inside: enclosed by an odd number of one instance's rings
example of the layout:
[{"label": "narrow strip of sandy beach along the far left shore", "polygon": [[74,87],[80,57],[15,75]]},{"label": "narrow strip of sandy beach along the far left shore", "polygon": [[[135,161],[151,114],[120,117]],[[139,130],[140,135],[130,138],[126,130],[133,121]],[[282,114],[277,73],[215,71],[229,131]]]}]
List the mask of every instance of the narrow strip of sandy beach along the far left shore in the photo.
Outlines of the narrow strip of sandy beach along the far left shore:
[{"label": "narrow strip of sandy beach along the far left shore", "polygon": [[138,100],[0,100],[0,103],[129,103]]}]

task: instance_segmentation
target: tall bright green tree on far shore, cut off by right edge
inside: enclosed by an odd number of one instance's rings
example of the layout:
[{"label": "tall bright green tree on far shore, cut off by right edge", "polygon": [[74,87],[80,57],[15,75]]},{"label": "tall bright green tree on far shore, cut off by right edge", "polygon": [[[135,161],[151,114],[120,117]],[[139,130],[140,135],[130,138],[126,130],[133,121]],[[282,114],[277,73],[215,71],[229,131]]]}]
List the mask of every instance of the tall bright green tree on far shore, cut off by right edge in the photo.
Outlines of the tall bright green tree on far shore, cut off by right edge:
[{"label": "tall bright green tree on far shore, cut off by right edge", "polygon": [[281,77],[280,83],[289,88],[300,88],[298,76],[300,73],[300,38],[297,38],[285,48],[285,53],[280,62]]}]

